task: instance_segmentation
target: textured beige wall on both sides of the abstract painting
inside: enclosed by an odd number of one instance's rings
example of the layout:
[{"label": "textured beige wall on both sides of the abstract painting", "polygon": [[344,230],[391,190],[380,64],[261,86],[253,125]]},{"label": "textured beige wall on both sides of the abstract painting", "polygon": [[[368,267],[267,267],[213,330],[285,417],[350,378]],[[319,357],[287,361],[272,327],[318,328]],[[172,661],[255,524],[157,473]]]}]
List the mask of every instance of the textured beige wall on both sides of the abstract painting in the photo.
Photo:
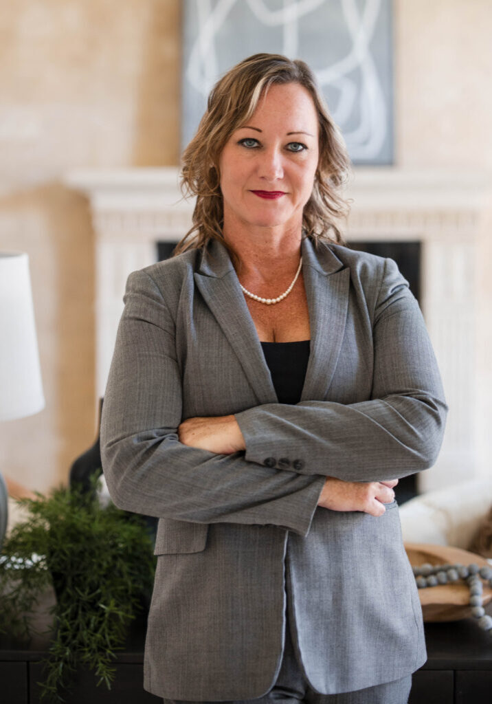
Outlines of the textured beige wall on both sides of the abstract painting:
[{"label": "textured beige wall on both sides of the abstract painting", "polygon": [[[394,3],[396,164],[492,169],[490,0]],[[94,239],[73,168],[178,161],[178,0],[17,0],[0,13],[0,249],[27,251],[46,409],[0,426],[45,490],[95,435]]]}]

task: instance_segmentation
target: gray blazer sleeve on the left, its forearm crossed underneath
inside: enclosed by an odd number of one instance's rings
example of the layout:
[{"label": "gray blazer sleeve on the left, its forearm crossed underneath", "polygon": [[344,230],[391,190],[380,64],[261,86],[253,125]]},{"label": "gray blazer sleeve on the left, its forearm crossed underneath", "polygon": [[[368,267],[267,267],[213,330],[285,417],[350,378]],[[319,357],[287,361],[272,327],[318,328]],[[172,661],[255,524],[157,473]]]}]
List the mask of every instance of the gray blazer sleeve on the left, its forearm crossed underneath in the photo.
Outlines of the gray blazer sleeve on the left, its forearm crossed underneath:
[{"label": "gray blazer sleeve on the left, its forearm crossed underneath", "polygon": [[175,322],[144,271],[130,275],[124,301],[101,418],[103,472],[115,505],[190,522],[272,524],[308,534],[324,477],[180,443]]}]

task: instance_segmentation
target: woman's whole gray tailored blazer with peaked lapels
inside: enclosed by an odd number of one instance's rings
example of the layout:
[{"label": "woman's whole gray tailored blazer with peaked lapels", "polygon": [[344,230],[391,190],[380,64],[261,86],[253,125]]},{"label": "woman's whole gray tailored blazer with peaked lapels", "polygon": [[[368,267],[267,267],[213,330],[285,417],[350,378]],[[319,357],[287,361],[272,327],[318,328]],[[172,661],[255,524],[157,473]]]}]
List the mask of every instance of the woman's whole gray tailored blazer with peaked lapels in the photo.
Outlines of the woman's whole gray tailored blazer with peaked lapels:
[{"label": "woman's whole gray tailored blazer with peaked lapels", "polygon": [[[390,259],[302,244],[311,347],[301,402],[279,404],[226,249],[214,242],[127,282],[103,406],[116,505],[160,517],[145,683],[164,698],[262,696],[286,608],[310,686],[362,689],[426,659],[396,502],[317,508],[330,475],[430,467],[446,403],[420,309]],[[234,413],[246,452],[179,443],[192,416]]]}]

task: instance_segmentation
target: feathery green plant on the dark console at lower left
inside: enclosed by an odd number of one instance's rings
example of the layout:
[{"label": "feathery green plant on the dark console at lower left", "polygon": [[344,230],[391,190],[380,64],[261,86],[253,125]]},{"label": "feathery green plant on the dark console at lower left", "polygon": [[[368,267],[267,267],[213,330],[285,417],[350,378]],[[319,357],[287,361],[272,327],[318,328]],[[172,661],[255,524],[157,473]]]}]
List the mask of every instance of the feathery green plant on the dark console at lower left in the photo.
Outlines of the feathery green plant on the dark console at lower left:
[{"label": "feathery green plant on the dark console at lower left", "polygon": [[47,702],[63,701],[77,667],[111,689],[115,651],[145,609],[153,584],[153,543],[142,517],[99,504],[91,491],[61,487],[22,499],[27,519],[0,556],[0,630],[31,632],[31,616],[50,585],[56,594],[45,679]]}]

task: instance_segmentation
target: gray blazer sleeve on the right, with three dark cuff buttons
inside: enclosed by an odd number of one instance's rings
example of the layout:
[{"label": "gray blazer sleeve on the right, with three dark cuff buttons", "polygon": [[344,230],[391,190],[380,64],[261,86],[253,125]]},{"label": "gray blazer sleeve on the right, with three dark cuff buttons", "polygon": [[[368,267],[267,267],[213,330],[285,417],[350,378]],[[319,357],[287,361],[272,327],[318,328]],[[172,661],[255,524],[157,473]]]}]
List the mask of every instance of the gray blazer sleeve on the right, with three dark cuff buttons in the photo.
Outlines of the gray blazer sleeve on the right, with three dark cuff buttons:
[{"label": "gray blazer sleeve on the right, with three dark cuff buttons", "polygon": [[373,344],[368,401],[272,403],[236,413],[246,460],[260,463],[266,454],[275,466],[277,458],[296,458],[291,467],[301,474],[351,482],[398,479],[431,467],[447,406],[422,313],[391,259],[374,306]]}]

